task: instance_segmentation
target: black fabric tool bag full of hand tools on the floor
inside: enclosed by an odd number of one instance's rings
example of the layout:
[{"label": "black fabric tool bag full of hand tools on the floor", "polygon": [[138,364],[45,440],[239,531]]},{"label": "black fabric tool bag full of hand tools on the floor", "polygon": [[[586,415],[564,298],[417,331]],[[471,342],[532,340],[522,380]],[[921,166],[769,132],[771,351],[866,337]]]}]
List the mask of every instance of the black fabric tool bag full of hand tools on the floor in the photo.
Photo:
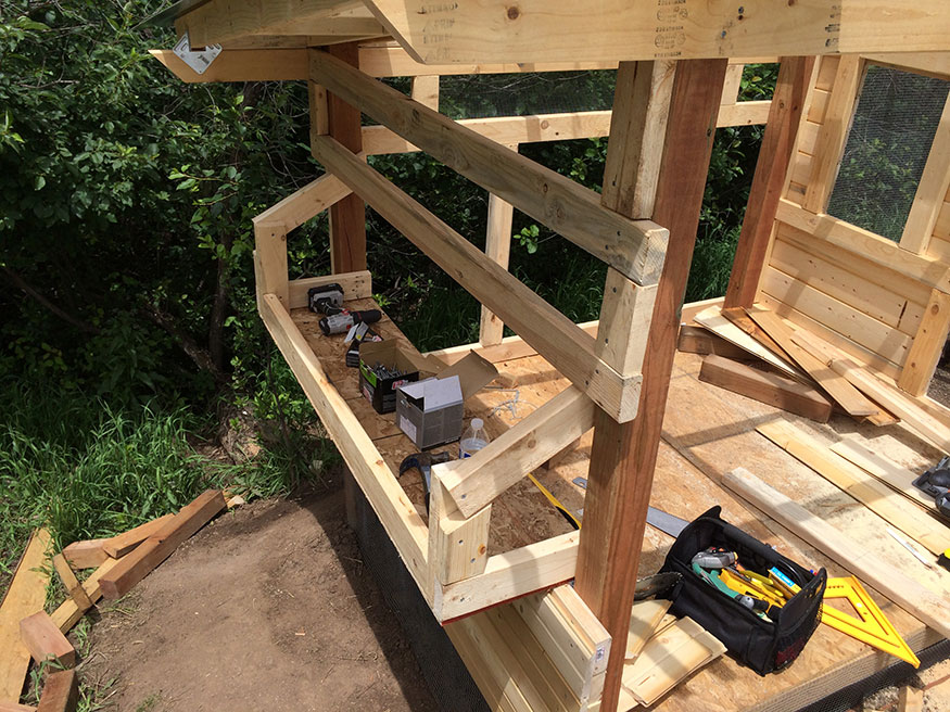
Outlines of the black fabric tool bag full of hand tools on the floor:
[{"label": "black fabric tool bag full of hand tools on the floor", "polygon": [[[787,668],[821,623],[822,597],[827,573],[813,574],[720,518],[721,507],[691,522],[676,537],[661,571],[683,574],[672,592],[674,615],[688,615],[719,638],[738,662],[760,675]],[[739,562],[757,573],[776,568],[801,590],[765,621],[725,593],[700,578],[691,564],[693,557],[711,546],[735,551]],[[772,612],[774,612],[774,608]]]}]

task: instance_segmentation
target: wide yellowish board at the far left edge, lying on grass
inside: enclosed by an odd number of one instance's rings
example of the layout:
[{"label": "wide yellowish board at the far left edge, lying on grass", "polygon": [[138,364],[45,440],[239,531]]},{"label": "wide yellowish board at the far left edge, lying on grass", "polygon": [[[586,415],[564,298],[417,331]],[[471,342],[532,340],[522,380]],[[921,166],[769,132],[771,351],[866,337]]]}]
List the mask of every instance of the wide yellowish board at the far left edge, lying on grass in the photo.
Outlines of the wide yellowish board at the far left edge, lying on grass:
[{"label": "wide yellowish board at the far left edge, lying on grass", "polygon": [[0,602],[0,700],[16,702],[23,690],[29,650],[20,638],[20,621],[42,610],[49,582],[43,567],[50,542],[47,530],[34,531]]}]

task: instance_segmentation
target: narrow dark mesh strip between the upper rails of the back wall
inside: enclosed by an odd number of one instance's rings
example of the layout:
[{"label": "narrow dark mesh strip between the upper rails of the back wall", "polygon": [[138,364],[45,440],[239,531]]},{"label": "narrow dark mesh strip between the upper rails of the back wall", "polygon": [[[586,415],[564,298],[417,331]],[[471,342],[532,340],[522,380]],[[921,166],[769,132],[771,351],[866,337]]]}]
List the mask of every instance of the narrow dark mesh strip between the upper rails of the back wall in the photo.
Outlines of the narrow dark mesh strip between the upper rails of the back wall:
[{"label": "narrow dark mesh strip between the upper rails of the back wall", "polygon": [[617,72],[544,72],[443,76],[439,111],[456,120],[603,111],[613,105]]}]

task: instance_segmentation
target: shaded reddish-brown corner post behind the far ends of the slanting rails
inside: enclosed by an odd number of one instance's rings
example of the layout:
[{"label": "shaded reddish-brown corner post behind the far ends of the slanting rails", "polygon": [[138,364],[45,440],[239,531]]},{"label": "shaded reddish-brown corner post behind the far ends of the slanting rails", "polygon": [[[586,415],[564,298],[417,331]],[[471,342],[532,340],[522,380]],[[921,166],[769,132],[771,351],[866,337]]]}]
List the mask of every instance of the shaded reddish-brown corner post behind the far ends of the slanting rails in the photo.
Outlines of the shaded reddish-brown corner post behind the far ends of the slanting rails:
[{"label": "shaded reddish-brown corner post behind the far ends of the slanting rails", "polygon": [[[356,42],[330,44],[332,56],[359,66]],[[327,129],[353,153],[363,151],[359,110],[332,93],[327,94]],[[366,204],[355,193],[330,206],[330,267],[334,275],[366,269]]]}]

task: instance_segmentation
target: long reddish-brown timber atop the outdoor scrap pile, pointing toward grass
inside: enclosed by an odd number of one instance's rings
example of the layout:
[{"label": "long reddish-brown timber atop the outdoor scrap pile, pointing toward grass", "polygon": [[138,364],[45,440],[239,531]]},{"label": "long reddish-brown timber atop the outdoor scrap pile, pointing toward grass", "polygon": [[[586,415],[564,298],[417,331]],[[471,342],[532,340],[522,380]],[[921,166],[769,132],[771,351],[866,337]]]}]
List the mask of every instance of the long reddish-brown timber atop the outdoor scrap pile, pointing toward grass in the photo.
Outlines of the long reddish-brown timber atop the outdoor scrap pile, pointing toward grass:
[{"label": "long reddish-brown timber atop the outdoor scrap pile, pointing toward grass", "polygon": [[207,490],[182,507],[173,519],[168,520],[131,554],[119,559],[117,565],[100,578],[99,586],[103,597],[107,600],[115,600],[125,596],[132,586],[172,556],[178,545],[198,532],[226,507],[227,503],[225,503],[220,490]]}]

